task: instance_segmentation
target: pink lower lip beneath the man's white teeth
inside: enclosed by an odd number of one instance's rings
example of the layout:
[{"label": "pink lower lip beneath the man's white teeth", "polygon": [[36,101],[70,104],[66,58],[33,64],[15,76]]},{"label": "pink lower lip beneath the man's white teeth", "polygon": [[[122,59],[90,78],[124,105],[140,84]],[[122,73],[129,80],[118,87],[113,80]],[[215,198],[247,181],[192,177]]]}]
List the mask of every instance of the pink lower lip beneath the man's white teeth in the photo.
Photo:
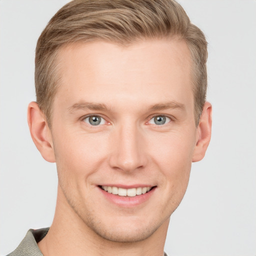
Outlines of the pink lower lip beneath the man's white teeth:
[{"label": "pink lower lip beneath the man's white teeth", "polygon": [[151,190],[144,194],[135,196],[120,196],[108,193],[105,190],[101,189],[100,187],[98,187],[98,189],[110,202],[121,207],[134,207],[147,201],[153,195],[156,187],[153,187]]}]

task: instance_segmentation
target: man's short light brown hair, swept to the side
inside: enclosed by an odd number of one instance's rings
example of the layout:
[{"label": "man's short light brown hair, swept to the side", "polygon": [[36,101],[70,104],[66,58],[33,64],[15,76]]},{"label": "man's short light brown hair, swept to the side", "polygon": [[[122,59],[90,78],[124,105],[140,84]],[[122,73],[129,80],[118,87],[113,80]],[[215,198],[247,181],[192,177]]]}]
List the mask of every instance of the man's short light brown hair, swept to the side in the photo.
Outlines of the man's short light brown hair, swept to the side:
[{"label": "man's short light brown hair, swept to the side", "polygon": [[36,100],[51,124],[52,102],[59,85],[57,53],[77,41],[104,40],[127,45],[141,38],[178,37],[189,47],[196,125],[207,88],[207,42],[174,0],[73,0],[50,19],[35,51]]}]

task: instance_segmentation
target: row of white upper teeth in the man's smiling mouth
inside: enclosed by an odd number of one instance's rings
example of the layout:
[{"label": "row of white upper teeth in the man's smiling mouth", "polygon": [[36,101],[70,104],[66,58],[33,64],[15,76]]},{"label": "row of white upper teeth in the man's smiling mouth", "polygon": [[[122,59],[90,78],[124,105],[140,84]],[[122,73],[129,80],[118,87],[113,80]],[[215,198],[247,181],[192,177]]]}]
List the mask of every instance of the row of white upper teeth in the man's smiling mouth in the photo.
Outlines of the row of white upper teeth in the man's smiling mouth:
[{"label": "row of white upper teeth in the man's smiling mouth", "polygon": [[122,188],[122,187],[116,187],[116,186],[101,186],[102,189],[107,191],[111,194],[118,194],[120,196],[136,196],[140,194],[144,194],[150,190],[150,186],[144,186],[144,187],[133,187],[133,188]]}]

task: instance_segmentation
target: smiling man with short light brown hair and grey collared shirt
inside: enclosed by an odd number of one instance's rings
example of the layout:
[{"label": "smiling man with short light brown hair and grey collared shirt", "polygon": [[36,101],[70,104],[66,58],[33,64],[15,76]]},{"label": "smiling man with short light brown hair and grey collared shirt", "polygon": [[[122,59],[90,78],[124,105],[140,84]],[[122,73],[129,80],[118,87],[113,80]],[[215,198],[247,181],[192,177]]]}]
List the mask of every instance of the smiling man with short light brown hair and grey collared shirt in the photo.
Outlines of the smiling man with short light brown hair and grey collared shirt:
[{"label": "smiling man with short light brown hair and grey collared shirt", "polygon": [[56,210],[9,255],[163,255],[210,140],[206,44],[172,0],[74,0],[51,18],[28,125],[56,162]]}]

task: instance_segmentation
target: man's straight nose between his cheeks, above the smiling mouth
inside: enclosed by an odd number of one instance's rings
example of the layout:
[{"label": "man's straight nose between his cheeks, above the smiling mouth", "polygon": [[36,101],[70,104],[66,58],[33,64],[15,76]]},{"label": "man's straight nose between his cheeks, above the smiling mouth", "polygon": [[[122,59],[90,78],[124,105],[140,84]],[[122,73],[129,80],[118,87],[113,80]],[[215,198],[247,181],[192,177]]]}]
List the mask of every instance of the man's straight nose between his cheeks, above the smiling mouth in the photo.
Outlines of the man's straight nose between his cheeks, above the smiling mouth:
[{"label": "man's straight nose between his cheeks, above the smiling mouth", "polygon": [[123,125],[110,138],[109,164],[125,172],[144,168],[147,163],[145,139],[139,127]]}]

